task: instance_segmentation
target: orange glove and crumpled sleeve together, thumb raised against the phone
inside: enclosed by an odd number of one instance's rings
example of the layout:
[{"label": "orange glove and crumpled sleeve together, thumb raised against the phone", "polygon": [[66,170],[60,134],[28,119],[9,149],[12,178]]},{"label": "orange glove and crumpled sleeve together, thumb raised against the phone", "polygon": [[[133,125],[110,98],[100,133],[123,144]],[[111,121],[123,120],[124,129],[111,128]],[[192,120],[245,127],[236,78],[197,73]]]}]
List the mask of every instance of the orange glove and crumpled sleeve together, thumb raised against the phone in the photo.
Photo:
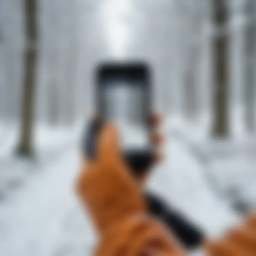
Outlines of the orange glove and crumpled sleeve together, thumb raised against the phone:
[{"label": "orange glove and crumpled sleeve together, thumb raised against the phone", "polygon": [[185,255],[171,234],[147,215],[143,195],[119,153],[113,126],[101,130],[96,155],[94,161],[83,161],[76,186],[100,231],[95,255]]}]

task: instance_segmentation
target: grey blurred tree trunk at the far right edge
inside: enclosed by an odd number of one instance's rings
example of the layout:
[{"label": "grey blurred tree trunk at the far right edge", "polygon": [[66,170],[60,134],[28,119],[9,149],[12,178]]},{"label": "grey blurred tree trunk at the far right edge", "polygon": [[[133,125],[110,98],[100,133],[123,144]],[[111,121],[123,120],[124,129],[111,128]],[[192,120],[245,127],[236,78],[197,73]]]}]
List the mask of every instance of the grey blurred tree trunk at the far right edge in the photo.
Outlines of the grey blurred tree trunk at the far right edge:
[{"label": "grey blurred tree trunk at the far right edge", "polygon": [[[255,0],[247,0],[246,14],[249,22],[255,18]],[[255,132],[255,44],[256,28],[250,23],[245,31],[245,123],[249,133]]]}]

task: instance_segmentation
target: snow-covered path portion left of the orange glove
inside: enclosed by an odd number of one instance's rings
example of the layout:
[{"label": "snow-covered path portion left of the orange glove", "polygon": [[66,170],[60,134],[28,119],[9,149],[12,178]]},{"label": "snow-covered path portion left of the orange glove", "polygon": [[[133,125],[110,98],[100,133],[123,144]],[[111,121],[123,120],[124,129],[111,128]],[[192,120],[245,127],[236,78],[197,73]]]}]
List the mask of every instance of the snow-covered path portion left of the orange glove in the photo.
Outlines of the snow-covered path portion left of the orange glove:
[{"label": "snow-covered path portion left of the orange glove", "polygon": [[[75,152],[67,152],[53,166],[31,174],[21,190],[0,204],[0,255],[70,255],[68,244],[62,243],[65,241],[62,235],[63,229],[67,233],[76,231],[68,222],[73,208],[74,221],[80,217],[78,228],[85,234],[82,246],[90,241],[91,233],[86,234],[89,227],[82,221],[84,214],[77,210],[71,186],[78,162]],[[78,243],[79,239],[76,240]],[[81,255],[84,254],[85,250]]]}]

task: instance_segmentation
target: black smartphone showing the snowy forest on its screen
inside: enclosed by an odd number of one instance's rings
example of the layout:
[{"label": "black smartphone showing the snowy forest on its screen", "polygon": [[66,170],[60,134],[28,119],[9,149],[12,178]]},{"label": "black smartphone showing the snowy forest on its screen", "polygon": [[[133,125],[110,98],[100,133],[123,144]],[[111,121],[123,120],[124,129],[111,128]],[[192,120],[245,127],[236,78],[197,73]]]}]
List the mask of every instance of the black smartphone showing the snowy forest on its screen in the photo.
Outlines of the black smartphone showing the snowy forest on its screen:
[{"label": "black smartphone showing the snowy forest on its screen", "polygon": [[151,156],[150,70],[145,63],[106,63],[97,69],[96,109],[119,130],[124,157],[133,169],[146,168]]}]

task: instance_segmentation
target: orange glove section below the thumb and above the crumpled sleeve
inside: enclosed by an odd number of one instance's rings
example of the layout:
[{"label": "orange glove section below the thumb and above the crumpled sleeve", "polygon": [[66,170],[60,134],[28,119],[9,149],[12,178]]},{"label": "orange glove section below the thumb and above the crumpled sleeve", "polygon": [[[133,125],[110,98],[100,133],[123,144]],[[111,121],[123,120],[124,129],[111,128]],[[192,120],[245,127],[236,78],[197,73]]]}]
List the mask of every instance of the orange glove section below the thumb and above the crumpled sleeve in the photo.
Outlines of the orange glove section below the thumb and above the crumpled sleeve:
[{"label": "orange glove section below the thumb and above the crumpled sleeve", "polygon": [[78,180],[78,193],[100,233],[126,216],[145,213],[137,184],[123,166],[87,164]]}]

